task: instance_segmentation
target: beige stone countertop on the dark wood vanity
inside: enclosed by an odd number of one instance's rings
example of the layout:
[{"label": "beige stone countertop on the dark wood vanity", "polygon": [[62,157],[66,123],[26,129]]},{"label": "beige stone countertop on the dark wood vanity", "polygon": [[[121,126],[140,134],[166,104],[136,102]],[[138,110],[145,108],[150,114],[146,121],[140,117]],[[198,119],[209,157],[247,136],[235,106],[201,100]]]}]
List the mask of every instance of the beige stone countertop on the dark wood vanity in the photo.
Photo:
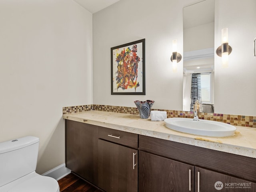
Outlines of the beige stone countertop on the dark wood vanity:
[{"label": "beige stone countertop on the dark wood vanity", "polygon": [[104,111],[86,111],[73,114],[64,114],[63,118],[256,158],[255,128],[236,126],[237,129],[234,136],[207,137],[178,132],[167,128],[164,121],[151,121],[150,118],[142,119],[139,115]]}]

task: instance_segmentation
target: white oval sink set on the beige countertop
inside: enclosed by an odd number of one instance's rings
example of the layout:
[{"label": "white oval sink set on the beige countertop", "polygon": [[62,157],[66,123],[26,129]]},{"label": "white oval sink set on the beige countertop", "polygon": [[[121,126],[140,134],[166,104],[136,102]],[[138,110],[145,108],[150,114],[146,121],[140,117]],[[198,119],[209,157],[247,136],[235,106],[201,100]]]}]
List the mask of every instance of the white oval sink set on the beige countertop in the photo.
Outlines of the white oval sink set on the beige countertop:
[{"label": "white oval sink set on the beige countertop", "polygon": [[233,136],[236,131],[236,127],[230,124],[210,120],[194,121],[190,118],[167,118],[164,122],[170,129],[202,136]]}]

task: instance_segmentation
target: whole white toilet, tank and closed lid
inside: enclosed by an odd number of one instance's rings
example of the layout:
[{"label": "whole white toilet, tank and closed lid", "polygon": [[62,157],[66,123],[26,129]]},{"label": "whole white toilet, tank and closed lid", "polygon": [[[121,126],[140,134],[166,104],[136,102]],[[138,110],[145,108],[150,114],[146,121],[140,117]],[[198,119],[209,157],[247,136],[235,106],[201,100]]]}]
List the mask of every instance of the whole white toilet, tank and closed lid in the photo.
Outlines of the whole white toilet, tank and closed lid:
[{"label": "whole white toilet, tank and closed lid", "polygon": [[58,182],[36,173],[39,138],[0,143],[0,192],[60,192]]}]

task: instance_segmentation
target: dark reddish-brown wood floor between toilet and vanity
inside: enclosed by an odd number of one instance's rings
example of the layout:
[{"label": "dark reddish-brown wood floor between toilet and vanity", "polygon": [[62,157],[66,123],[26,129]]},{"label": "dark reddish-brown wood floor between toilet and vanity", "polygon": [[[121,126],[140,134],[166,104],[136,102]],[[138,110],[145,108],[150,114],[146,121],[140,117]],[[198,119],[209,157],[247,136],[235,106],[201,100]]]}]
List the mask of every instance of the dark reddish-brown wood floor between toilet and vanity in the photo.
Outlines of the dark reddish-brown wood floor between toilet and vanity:
[{"label": "dark reddish-brown wood floor between toilet and vanity", "polygon": [[60,192],[102,192],[72,173],[58,180],[58,183]]}]

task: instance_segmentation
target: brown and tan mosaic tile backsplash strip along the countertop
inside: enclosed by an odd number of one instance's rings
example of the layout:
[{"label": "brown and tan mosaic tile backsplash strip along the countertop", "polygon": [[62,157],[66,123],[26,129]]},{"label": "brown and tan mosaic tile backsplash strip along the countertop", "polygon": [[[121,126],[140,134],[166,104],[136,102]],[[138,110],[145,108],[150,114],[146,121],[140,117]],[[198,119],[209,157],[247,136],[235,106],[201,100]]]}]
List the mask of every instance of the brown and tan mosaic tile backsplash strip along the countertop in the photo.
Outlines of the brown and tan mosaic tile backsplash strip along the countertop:
[{"label": "brown and tan mosaic tile backsplash strip along the countertop", "polygon": [[[90,111],[90,110],[139,115],[139,112],[136,107],[95,105],[95,104],[63,107],[63,114],[78,113],[78,112],[84,112],[84,111]],[[158,110],[158,109],[152,109],[152,110]],[[172,118],[172,117],[194,118],[194,113],[190,112],[190,111],[176,111],[176,110],[159,110],[159,111],[166,111],[167,118]],[[198,117],[199,117],[199,119],[218,121],[218,122],[231,124],[234,126],[256,128],[256,116],[199,112]]]}]

